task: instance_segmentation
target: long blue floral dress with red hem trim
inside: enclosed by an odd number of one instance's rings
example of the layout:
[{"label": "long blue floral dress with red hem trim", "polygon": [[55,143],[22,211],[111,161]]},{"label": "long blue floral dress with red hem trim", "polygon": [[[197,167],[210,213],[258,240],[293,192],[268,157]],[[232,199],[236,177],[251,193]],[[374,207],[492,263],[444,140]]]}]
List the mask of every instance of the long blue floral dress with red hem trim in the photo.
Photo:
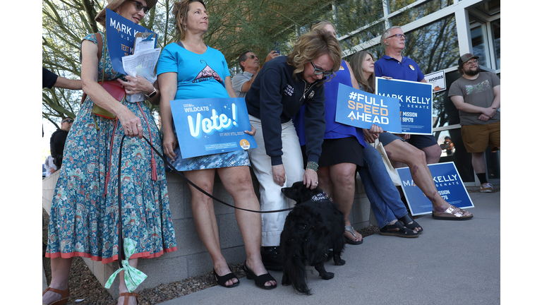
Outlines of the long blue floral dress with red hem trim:
[{"label": "long blue floral dress with red hem trim", "polygon": [[[85,40],[97,43],[94,34]],[[102,41],[104,34],[102,33]],[[105,42],[103,41],[103,44]],[[124,75],[113,70],[109,53],[105,80]],[[102,79],[102,63],[98,79]],[[143,136],[162,153],[162,141],[147,106],[124,102],[141,118]],[[139,106],[138,106],[139,104]],[[92,115],[87,97],[71,126],[56,184],[49,220],[48,258],[83,256],[110,263],[118,256],[119,203],[117,199],[119,149],[124,129],[120,121]],[[148,122],[148,124],[147,124]],[[150,130],[150,135],[149,135]],[[137,241],[131,258],[155,258],[176,251],[169,211],[164,162],[155,156],[157,179],[151,179],[152,148],[144,139],[124,139],[121,160],[123,237]],[[109,172],[109,181],[106,177]]]}]

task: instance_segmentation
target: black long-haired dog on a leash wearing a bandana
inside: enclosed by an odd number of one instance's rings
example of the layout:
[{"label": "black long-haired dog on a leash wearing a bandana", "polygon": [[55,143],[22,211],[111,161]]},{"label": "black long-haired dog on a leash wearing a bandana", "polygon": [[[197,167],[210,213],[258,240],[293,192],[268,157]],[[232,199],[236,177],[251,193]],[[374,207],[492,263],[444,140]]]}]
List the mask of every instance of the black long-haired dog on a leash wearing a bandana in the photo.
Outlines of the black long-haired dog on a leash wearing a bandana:
[{"label": "black long-haired dog on a leash wearing a bandana", "polygon": [[282,193],[296,201],[280,234],[284,264],[282,285],[293,285],[297,291],[311,294],[307,286],[305,263],[314,266],[324,280],[334,276],[324,268],[329,249],[333,249],[335,265],[345,263],[341,259],[344,251],[344,214],[321,189],[307,189],[303,181],[283,188]]}]

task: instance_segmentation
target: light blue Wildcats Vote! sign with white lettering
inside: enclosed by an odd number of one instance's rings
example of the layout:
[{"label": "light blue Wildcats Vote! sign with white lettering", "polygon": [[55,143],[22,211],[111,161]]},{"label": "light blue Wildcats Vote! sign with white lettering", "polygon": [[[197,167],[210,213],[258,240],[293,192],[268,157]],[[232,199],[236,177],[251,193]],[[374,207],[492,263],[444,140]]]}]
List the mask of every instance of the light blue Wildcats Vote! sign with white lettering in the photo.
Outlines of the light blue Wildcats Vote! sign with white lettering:
[{"label": "light blue Wildcats Vote! sign with white lettering", "polygon": [[172,100],[183,159],[256,148],[244,97]]}]

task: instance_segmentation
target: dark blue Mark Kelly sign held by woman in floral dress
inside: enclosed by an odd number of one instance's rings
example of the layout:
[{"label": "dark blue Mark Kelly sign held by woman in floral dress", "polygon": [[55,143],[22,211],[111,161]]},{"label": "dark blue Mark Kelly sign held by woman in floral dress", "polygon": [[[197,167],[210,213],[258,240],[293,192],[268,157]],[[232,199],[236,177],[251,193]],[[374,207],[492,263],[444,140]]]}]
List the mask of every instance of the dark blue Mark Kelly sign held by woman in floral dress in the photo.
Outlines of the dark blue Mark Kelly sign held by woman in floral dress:
[{"label": "dark blue Mark Kelly sign held by woman in floral dress", "polygon": [[[118,13],[105,9],[105,31],[107,37],[107,50],[111,56],[113,69],[126,75],[122,66],[122,57],[133,54],[135,34],[138,32],[154,32],[143,28],[141,25],[120,16]],[[155,40],[155,47],[156,47]]]}]

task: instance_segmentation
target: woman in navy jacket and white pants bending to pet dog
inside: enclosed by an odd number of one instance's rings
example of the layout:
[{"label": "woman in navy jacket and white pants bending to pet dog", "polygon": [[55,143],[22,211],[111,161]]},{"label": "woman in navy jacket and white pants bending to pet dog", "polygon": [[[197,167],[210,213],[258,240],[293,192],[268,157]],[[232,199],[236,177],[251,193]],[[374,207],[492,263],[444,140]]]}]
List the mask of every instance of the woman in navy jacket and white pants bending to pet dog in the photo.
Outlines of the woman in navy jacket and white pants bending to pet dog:
[{"label": "woman in navy jacket and white pants bending to pet dog", "polygon": [[[323,82],[341,65],[341,47],[329,32],[313,31],[299,37],[288,56],[265,63],[245,97],[258,148],[251,149],[253,170],[260,182],[262,210],[288,208],[282,187],[296,181],[318,186],[324,119]],[[305,130],[308,162],[303,169],[299,138],[291,118],[306,104]],[[267,269],[282,270],[278,246],[287,212],[262,216],[262,258]]]}]

